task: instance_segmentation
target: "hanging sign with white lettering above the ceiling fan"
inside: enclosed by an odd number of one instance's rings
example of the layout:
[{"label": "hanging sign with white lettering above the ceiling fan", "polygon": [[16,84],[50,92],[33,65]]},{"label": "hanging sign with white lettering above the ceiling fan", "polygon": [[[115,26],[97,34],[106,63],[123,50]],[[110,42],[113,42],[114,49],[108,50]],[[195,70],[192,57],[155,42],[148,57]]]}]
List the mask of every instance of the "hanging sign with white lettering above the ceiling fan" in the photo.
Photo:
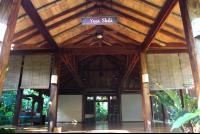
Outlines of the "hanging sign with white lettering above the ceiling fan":
[{"label": "hanging sign with white lettering above the ceiling fan", "polygon": [[116,14],[83,15],[82,25],[107,25],[117,24]]}]

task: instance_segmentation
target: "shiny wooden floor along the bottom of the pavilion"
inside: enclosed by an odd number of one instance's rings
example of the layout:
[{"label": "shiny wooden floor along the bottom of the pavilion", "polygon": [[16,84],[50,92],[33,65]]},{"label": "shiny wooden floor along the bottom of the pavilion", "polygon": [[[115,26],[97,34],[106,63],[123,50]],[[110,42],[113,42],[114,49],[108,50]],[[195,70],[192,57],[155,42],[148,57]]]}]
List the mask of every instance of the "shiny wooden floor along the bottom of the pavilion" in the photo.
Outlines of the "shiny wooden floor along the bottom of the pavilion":
[{"label": "shiny wooden floor along the bottom of the pavilion", "polygon": [[[129,123],[58,123],[63,127],[63,133],[170,133],[168,124],[154,123],[153,131],[144,131],[143,122]],[[0,128],[15,129],[18,133],[48,133],[47,124],[43,126],[0,126]],[[172,131],[173,133],[179,131]]]}]

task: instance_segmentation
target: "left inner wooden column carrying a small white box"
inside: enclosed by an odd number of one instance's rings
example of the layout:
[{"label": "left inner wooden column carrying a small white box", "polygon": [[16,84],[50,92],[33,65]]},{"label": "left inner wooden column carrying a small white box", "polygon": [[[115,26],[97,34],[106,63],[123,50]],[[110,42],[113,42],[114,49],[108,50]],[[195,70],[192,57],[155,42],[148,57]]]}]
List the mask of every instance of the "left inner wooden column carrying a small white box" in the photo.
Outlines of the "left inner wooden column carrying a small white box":
[{"label": "left inner wooden column carrying a small white box", "polygon": [[[60,78],[60,54],[54,54],[54,64],[52,67],[52,75],[57,75],[57,84],[50,85],[50,103],[49,103],[49,121],[48,131],[52,132],[53,128],[57,126],[57,107],[58,107],[58,94],[59,94],[59,78]],[[52,129],[51,125],[52,124]]]}]

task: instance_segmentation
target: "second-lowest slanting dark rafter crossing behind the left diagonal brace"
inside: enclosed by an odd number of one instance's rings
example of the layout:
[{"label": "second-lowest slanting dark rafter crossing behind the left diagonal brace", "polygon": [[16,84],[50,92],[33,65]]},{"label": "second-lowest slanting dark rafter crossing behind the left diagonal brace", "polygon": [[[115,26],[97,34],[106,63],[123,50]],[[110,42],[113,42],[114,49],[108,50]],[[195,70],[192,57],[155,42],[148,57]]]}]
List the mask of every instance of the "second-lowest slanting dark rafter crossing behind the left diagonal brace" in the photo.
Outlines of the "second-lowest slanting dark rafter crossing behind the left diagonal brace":
[{"label": "second-lowest slanting dark rafter crossing behind the left diagonal brace", "polygon": [[[65,10],[65,11],[63,11],[63,12],[61,12],[61,13],[55,15],[55,16],[52,16],[52,17],[50,17],[50,18],[44,20],[43,22],[44,22],[45,25],[47,25],[47,24],[49,24],[50,22],[55,21],[55,20],[58,20],[59,18],[61,18],[61,17],[64,16],[64,15],[67,15],[67,14],[70,14],[70,13],[72,13],[72,12],[75,12],[75,11],[79,10],[80,8],[85,7],[86,4],[90,4],[90,3],[91,3],[91,2],[85,2],[85,3],[83,3],[83,4],[80,4],[80,5],[76,6],[76,7],[73,7],[73,8],[71,8],[71,9]],[[36,26],[28,27],[28,28],[26,28],[26,29],[24,29],[24,30],[22,30],[22,31],[20,31],[20,32],[18,32],[18,33],[16,33],[16,34],[14,34],[13,39],[20,38],[21,36],[23,36],[23,35],[25,35],[25,34],[28,34],[28,33],[32,32],[32,31],[34,31],[34,30],[36,30]]]}]

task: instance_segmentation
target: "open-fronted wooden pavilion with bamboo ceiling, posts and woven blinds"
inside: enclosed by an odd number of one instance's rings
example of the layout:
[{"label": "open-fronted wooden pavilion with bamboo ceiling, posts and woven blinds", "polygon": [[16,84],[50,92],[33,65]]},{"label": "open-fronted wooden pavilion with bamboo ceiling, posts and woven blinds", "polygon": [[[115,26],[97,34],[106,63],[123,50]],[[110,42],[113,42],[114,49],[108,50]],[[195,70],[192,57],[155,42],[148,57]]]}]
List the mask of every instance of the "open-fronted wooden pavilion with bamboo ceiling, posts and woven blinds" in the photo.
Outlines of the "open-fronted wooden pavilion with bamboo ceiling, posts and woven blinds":
[{"label": "open-fronted wooden pavilion with bamboo ceiling, posts and woven blinds", "polygon": [[[109,114],[118,114],[122,122],[122,95],[139,94],[136,102],[141,103],[146,131],[152,130],[147,94],[159,90],[154,82],[181,92],[195,85],[193,94],[199,99],[199,36],[193,36],[191,23],[200,17],[199,0],[0,2],[0,23],[7,26],[1,41],[0,96],[17,90],[13,125],[18,124],[26,88],[50,96],[49,131],[50,122],[57,125],[61,104],[80,100],[73,99],[76,95],[81,96],[82,122],[86,114],[94,114],[87,98],[97,96],[107,96],[117,106],[117,112],[108,108]],[[83,15],[94,14],[116,14],[118,22],[81,24]],[[106,32],[110,34],[104,36]],[[111,102],[111,97],[117,100]]]}]

